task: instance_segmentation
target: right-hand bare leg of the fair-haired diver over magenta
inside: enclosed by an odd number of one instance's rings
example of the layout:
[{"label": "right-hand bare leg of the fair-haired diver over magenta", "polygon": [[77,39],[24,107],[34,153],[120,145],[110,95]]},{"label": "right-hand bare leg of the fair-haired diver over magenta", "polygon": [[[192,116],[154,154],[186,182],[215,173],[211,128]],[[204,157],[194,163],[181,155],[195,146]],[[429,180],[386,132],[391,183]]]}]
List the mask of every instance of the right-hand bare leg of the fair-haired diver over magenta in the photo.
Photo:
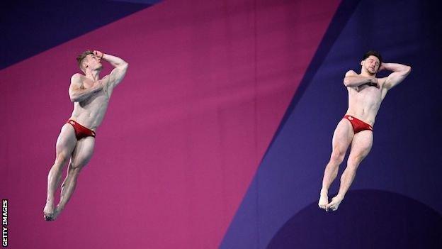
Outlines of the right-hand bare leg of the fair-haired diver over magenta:
[{"label": "right-hand bare leg of the fair-haired diver over magenta", "polygon": [[77,185],[77,178],[81,169],[91,160],[94,153],[95,138],[86,137],[77,142],[74,153],[72,153],[71,162],[67,171],[67,177],[62,184],[62,193],[60,197],[60,203],[55,209],[55,217],[63,211],[69,199],[71,199]]}]

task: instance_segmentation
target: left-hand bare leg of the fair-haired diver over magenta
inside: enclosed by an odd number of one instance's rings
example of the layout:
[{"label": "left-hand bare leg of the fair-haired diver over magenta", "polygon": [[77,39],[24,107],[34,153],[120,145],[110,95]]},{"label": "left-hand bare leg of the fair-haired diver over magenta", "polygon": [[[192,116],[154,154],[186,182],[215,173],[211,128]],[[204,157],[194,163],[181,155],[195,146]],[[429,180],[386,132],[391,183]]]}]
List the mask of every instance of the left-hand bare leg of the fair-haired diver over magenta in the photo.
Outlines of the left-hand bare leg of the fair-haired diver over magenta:
[{"label": "left-hand bare leg of the fair-haired diver over magenta", "polygon": [[54,216],[54,194],[60,184],[63,167],[66,165],[69,157],[71,157],[76,144],[77,138],[75,138],[74,128],[67,123],[64,124],[60,135],[58,135],[57,144],[55,145],[55,162],[47,175],[47,197],[46,205],[43,209],[45,220],[47,221],[52,221]]}]

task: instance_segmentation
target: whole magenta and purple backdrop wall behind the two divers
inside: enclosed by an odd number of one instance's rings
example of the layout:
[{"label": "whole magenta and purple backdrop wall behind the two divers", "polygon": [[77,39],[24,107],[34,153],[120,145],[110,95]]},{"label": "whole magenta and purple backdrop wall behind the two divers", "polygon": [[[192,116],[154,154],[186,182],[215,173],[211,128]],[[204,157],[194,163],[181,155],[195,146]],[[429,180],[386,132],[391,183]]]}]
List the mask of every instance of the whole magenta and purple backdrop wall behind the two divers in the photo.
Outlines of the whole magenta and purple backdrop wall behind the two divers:
[{"label": "whole magenta and purple backdrop wall behind the two divers", "polygon": [[[0,197],[10,247],[437,248],[440,5],[2,4]],[[88,48],[130,68],[74,196],[48,223],[47,172],[72,111],[75,57]],[[382,103],[351,192],[325,213],[317,199],[346,111],[342,78],[369,49],[412,74]]]}]

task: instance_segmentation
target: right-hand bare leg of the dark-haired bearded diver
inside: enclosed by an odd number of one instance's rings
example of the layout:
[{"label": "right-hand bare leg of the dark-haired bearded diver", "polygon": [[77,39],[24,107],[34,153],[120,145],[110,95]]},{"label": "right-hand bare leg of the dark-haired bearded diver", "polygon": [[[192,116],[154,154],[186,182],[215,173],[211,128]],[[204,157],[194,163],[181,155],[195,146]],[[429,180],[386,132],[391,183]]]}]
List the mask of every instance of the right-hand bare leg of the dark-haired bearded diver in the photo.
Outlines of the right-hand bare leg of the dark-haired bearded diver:
[{"label": "right-hand bare leg of the dark-haired bearded diver", "polygon": [[327,205],[327,209],[336,211],[339,204],[344,199],[348,189],[356,176],[356,170],[361,164],[362,160],[370,153],[371,146],[373,145],[373,132],[361,131],[354,135],[353,142],[351,143],[350,155],[348,155],[347,167],[341,175],[341,186],[336,197],[331,199]]}]

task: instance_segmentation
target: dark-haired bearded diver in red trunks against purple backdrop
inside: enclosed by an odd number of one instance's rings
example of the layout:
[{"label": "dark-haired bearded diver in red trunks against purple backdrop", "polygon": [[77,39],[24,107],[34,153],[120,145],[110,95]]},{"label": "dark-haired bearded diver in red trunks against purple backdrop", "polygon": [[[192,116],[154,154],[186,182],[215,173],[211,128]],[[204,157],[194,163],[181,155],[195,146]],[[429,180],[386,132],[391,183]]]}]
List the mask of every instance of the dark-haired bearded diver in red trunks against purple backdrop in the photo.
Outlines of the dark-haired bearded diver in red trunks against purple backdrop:
[{"label": "dark-haired bearded diver in red trunks against purple backdrop", "polygon": [[[361,74],[350,70],[344,78],[344,85],[348,90],[348,110],[334,130],[333,151],[322,179],[318,205],[325,211],[338,209],[353,182],[359,164],[370,152],[373,145],[373,125],[385,94],[402,82],[411,71],[411,67],[406,65],[383,63],[382,57],[375,51],[365,53],[361,66]],[[389,70],[392,73],[388,77],[376,78],[376,73],[380,70]],[[339,165],[350,144],[350,155],[347,167],[341,175],[339,192],[329,203],[329,187],[338,175]]]}]

